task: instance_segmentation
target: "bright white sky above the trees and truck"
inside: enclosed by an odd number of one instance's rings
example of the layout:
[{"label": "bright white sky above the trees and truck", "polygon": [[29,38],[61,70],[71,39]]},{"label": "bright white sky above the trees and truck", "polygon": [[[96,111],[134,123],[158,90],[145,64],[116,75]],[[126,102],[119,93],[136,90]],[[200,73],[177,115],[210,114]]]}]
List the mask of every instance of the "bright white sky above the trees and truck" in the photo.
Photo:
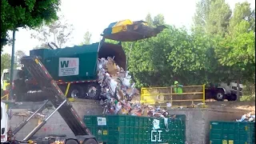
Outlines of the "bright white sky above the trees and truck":
[{"label": "bright white sky above the trees and truck", "polygon": [[[154,17],[163,14],[166,24],[177,27],[186,26],[189,30],[193,23],[196,3],[199,0],[62,0],[61,13],[68,23],[74,26],[72,39],[66,46],[78,45],[82,42],[86,31],[92,34],[91,42],[99,42],[100,34],[111,23],[124,19],[138,21],[146,18],[147,14]],[[250,2],[255,7],[254,0],[226,0],[230,8],[234,10],[237,2]],[[16,32],[15,51],[23,50],[29,55],[30,50],[38,46],[40,42],[31,38],[32,30],[18,29]],[[10,35],[12,32],[10,31]],[[11,46],[4,46],[3,53],[11,54]]]}]

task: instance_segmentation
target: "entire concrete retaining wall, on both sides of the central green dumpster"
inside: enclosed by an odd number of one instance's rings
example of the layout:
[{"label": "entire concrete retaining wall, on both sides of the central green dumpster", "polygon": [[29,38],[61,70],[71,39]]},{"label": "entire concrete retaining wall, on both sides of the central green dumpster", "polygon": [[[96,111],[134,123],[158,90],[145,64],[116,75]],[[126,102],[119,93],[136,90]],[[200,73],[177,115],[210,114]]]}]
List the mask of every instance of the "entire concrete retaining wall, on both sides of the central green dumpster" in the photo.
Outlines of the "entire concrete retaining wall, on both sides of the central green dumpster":
[{"label": "entire concrete retaining wall, on both sides of the central green dumpster", "polygon": [[[102,114],[102,106],[98,102],[92,100],[79,100],[71,102],[78,115],[83,118],[84,115],[99,115]],[[22,111],[22,110],[21,110]],[[52,110],[44,110],[45,114],[50,114]],[[186,115],[186,141],[188,144],[209,144],[210,121],[235,121],[246,114],[247,110],[235,110],[227,108],[209,108],[209,109],[179,109],[168,110],[170,114],[185,114]],[[26,117],[13,116],[10,123],[12,128],[18,126]],[[17,139],[23,139],[38,125],[39,118],[32,118],[30,122],[16,134]],[[69,126],[62,117],[55,113],[45,126],[38,131],[34,136],[42,137],[48,134],[66,134],[74,136]]]}]

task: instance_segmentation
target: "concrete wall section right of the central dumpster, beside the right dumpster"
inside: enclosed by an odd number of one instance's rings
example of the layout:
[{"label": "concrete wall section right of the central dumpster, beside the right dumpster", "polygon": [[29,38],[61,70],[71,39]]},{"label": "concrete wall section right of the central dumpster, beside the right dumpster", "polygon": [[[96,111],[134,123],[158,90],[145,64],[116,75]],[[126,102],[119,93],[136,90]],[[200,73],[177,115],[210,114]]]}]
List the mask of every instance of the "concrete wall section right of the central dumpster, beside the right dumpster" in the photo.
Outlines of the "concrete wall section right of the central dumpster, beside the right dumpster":
[{"label": "concrete wall section right of the central dumpster, beside the right dumpster", "polygon": [[210,143],[210,121],[235,121],[240,119],[247,110],[235,109],[182,109],[168,110],[169,114],[186,115],[186,142],[188,144]]}]

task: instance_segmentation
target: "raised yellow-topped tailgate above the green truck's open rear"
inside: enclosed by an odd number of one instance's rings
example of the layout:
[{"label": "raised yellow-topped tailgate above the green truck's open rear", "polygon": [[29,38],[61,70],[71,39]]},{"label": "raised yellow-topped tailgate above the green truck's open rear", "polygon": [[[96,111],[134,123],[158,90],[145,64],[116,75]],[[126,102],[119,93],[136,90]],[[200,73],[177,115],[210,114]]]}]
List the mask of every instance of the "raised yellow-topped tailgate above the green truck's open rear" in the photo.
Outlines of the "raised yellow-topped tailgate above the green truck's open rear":
[{"label": "raised yellow-topped tailgate above the green truck's open rear", "polygon": [[143,38],[155,37],[166,26],[156,28],[148,26],[144,21],[131,22],[129,19],[113,22],[103,31],[103,38],[119,42],[134,42]]}]

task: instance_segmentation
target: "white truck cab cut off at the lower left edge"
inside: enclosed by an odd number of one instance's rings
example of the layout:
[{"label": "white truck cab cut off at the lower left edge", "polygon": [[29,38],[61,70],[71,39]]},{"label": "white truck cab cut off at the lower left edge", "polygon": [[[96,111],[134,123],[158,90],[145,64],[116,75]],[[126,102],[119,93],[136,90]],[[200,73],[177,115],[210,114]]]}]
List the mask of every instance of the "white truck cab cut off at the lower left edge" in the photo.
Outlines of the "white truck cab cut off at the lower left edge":
[{"label": "white truck cab cut off at the lower left edge", "polygon": [[8,114],[6,109],[6,103],[1,102],[1,143],[7,141],[8,131]]}]

